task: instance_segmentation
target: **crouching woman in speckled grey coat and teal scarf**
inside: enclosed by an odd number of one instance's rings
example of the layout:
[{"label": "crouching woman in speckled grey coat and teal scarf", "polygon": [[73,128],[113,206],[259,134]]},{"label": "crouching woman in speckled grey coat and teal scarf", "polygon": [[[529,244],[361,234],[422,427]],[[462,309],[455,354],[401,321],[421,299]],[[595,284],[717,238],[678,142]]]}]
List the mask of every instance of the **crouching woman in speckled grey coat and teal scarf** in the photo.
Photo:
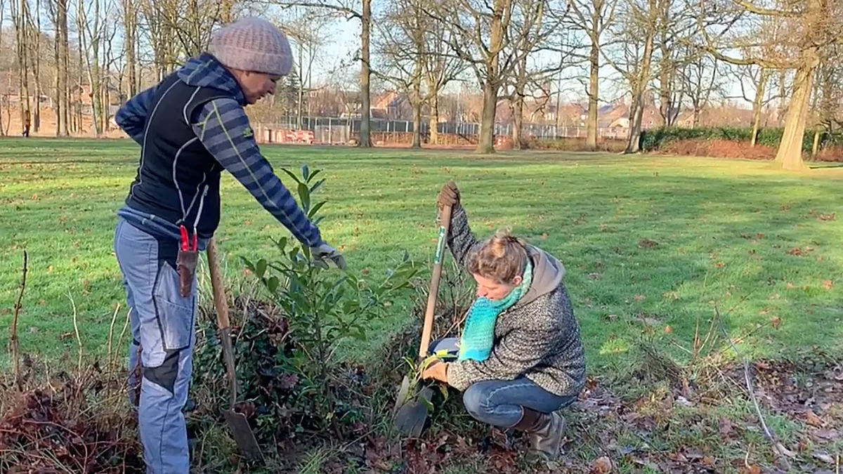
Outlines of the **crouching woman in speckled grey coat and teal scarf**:
[{"label": "crouching woman in speckled grey coat and teal scarf", "polygon": [[452,207],[448,248],[477,283],[459,340],[434,342],[452,362],[436,362],[422,374],[463,391],[465,409],[483,423],[529,434],[531,454],[559,456],[565,419],[585,379],[579,327],[562,277],[565,267],[533,245],[498,233],[475,239],[453,181],[438,206]]}]

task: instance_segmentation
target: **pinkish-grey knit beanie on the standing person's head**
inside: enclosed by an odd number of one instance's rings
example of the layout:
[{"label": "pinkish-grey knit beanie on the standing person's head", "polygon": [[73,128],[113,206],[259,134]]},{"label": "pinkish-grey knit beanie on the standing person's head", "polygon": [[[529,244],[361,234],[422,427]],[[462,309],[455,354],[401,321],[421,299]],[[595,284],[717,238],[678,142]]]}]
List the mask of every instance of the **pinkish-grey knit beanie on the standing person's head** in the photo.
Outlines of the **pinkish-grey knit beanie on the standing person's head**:
[{"label": "pinkish-grey knit beanie on the standing person's head", "polygon": [[255,73],[286,76],[293,52],[281,30],[265,19],[239,19],[217,30],[208,47],[223,66]]}]

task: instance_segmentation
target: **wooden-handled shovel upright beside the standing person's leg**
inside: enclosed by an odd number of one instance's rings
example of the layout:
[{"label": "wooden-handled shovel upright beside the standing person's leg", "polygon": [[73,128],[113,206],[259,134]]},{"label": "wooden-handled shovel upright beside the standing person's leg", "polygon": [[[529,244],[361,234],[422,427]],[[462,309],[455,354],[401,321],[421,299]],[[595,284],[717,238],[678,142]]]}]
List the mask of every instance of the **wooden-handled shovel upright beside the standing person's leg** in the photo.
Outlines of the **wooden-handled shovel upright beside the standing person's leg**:
[{"label": "wooden-handled shovel upright beside the standing person's leg", "polygon": [[234,349],[231,347],[231,323],[228,320],[228,301],[225,299],[225,288],[223,288],[223,277],[219,272],[217,263],[217,242],[211,239],[207,245],[208,267],[211,269],[211,286],[213,288],[213,303],[217,308],[217,326],[219,326],[219,337],[223,345],[223,358],[228,369],[228,378],[231,380],[231,400],[228,410],[223,411],[225,423],[231,430],[237,447],[250,459],[262,460],[260,446],[252,433],[249,421],[243,413],[234,412],[237,403],[237,374],[234,372]]}]

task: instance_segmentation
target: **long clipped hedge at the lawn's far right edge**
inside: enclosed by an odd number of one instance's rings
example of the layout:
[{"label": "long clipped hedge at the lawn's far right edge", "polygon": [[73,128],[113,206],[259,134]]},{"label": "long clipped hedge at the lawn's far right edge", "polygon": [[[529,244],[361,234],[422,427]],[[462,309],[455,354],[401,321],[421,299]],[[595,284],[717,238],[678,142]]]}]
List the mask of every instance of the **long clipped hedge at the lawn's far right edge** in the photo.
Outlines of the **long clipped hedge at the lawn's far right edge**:
[{"label": "long clipped hedge at the lawn's far right edge", "polygon": [[[758,144],[768,147],[778,147],[781,142],[782,128],[762,128],[758,132]],[[730,142],[749,142],[752,138],[751,127],[710,127],[710,128],[678,128],[661,127],[645,130],[641,135],[643,151],[652,151],[664,145],[679,140],[728,140]],[[824,132],[819,138],[819,147],[843,145],[843,133]],[[813,131],[806,130],[802,148],[810,152],[813,148]]]}]

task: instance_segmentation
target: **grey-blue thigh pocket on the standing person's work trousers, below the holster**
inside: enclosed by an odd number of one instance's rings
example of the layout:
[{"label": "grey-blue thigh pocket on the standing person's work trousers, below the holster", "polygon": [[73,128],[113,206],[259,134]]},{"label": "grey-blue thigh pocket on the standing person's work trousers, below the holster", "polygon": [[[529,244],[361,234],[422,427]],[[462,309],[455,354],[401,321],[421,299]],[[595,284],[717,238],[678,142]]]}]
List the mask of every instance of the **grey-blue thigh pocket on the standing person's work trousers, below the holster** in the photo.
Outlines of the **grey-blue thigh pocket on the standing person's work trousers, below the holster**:
[{"label": "grey-blue thigh pocket on the standing person's work trousers, below the holster", "polygon": [[165,351],[184,349],[190,346],[193,337],[196,293],[194,290],[191,296],[182,298],[179,285],[179,273],[168,263],[162,263],[158,267],[153,299]]}]

